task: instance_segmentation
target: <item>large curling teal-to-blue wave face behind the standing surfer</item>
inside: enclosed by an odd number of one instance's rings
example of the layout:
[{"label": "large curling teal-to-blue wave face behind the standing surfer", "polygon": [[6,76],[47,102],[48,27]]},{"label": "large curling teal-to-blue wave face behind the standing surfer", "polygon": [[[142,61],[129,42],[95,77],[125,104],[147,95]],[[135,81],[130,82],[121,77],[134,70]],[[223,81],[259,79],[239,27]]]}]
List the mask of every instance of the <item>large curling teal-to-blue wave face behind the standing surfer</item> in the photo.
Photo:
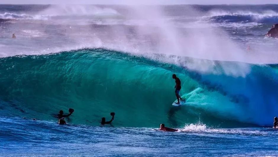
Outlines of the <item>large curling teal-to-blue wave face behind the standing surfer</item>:
[{"label": "large curling teal-to-blue wave face behind the standing surfer", "polygon": [[[183,58],[185,61],[198,60]],[[200,60],[201,61],[201,60]],[[235,62],[211,61],[214,69]],[[75,112],[69,123],[159,127],[203,123],[241,127],[271,125],[277,113],[276,65],[251,65],[243,76],[204,73],[189,67],[106,49],[0,59],[0,115],[56,120],[59,110]],[[182,81],[185,106],[173,107],[172,74]]]}]

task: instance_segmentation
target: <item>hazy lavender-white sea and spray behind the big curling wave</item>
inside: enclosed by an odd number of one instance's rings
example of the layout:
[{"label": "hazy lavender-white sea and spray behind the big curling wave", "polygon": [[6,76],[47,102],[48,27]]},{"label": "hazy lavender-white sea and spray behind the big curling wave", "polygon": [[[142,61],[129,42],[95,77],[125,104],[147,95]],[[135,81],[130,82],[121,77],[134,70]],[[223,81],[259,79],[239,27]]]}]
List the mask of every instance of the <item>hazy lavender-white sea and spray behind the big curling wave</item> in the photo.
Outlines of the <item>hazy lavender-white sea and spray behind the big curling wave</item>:
[{"label": "hazy lavender-white sea and spray behind the big curling wave", "polygon": [[[277,21],[276,6],[1,5],[0,56],[104,47],[277,63],[276,40],[264,38]],[[12,33],[18,40],[7,38]],[[252,51],[245,51],[248,46]]]}]

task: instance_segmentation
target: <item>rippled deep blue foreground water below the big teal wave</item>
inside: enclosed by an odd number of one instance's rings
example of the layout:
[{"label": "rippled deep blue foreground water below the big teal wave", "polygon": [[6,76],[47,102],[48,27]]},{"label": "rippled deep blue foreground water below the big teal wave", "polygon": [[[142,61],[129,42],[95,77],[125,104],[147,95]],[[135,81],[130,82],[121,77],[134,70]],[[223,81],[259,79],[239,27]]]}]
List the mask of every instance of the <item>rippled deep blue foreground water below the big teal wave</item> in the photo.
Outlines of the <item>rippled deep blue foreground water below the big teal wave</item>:
[{"label": "rippled deep blue foreground water below the big teal wave", "polygon": [[[151,128],[56,124],[2,117],[1,156],[276,156],[277,130]],[[5,129],[4,129],[5,128]],[[9,134],[9,136],[7,136]]]}]

